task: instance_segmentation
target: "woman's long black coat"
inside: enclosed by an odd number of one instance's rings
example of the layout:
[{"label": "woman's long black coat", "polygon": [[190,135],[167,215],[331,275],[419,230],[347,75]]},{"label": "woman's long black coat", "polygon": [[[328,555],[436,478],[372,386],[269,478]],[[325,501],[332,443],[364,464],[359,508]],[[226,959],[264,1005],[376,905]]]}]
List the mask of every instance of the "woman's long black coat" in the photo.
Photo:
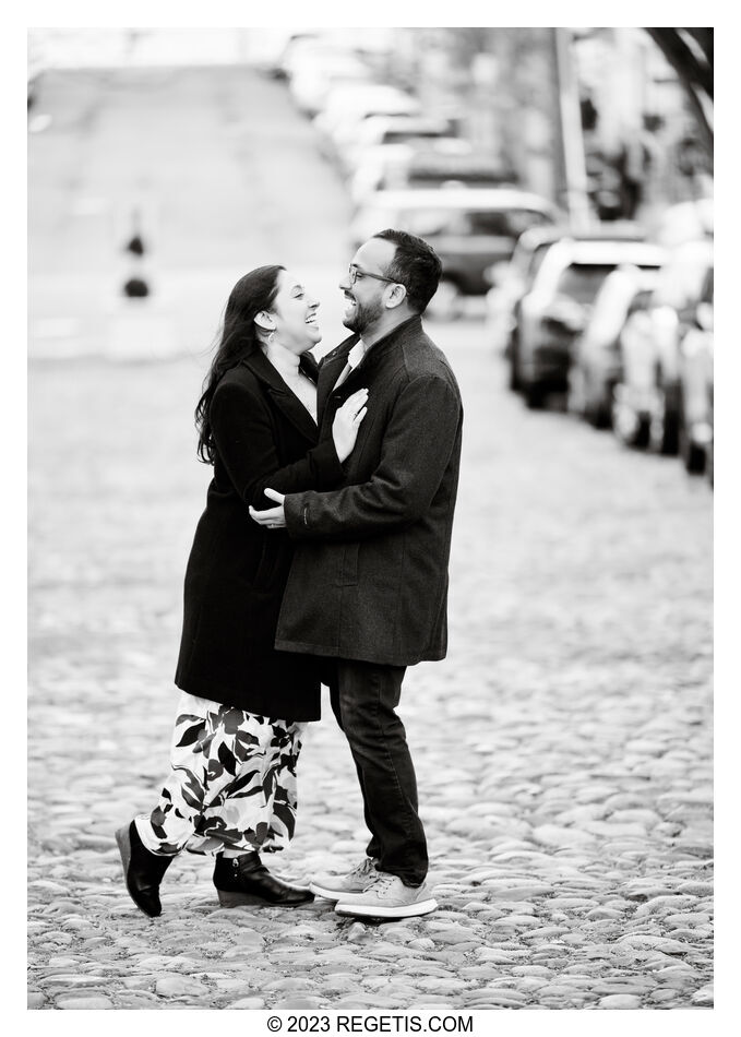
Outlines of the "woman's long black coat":
[{"label": "woman's long black coat", "polygon": [[[302,370],[315,379],[312,358]],[[319,660],[276,652],[275,629],[294,548],[248,505],[282,493],[332,489],[343,469],[330,437],[267,358],[256,351],[229,370],[212,397],[214,478],[186,572],[175,682],[193,695],[288,720],[320,716]]]}]

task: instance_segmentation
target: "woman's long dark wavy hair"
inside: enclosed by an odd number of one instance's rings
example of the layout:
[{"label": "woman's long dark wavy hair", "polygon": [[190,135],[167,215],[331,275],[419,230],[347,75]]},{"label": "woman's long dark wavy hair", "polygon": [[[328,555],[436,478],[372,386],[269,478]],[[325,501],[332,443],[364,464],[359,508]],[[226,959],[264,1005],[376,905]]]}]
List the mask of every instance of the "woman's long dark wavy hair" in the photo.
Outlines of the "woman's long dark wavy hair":
[{"label": "woman's long dark wavy hair", "polygon": [[254,319],[261,310],[270,310],[273,306],[278,291],[278,272],[282,270],[285,266],[259,266],[240,277],[229,295],[216,355],[203,383],[203,395],[195,407],[198,454],[204,464],[213,465],[216,454],[208,414],[212,397],[226,372],[260,347]]}]

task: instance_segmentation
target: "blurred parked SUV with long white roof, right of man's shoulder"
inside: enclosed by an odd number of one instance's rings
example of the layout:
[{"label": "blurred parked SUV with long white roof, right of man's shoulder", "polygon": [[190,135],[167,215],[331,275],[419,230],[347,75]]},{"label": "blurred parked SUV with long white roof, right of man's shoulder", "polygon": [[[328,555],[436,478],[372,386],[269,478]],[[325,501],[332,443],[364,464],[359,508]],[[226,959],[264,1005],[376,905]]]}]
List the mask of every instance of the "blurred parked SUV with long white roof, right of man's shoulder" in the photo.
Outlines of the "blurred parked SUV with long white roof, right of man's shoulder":
[{"label": "blurred parked SUV with long white roof, right of man's shoulder", "polygon": [[540,407],[549,391],[567,388],[572,343],[586,327],[607,275],[624,263],[657,269],[662,258],[657,246],[630,238],[564,238],[551,245],[517,302],[512,334],[512,381],[528,407]]}]

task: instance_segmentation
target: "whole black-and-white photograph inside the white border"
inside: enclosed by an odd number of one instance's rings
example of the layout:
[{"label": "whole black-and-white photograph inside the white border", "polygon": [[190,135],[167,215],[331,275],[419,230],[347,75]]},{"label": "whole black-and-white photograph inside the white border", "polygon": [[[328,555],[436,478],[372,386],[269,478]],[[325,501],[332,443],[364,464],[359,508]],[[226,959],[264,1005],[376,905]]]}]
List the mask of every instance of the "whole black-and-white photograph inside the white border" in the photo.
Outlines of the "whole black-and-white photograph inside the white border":
[{"label": "whole black-and-white photograph inside the white border", "polygon": [[26,1020],[715,1025],[714,28],[33,7]]}]

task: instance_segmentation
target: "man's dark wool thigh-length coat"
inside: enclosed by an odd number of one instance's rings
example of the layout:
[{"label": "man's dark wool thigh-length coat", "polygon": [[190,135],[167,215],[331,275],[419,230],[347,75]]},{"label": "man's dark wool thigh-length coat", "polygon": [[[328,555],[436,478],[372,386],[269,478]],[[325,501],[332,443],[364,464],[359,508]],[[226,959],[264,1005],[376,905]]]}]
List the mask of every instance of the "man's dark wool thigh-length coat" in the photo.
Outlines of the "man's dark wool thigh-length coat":
[{"label": "man's dark wool thigh-length coat", "polygon": [[296,545],[276,647],[393,666],[441,659],[463,407],[419,317],[375,343],[334,390],[357,342],[320,366],[320,443],[337,407],[369,390],[342,487],[286,497]]}]

